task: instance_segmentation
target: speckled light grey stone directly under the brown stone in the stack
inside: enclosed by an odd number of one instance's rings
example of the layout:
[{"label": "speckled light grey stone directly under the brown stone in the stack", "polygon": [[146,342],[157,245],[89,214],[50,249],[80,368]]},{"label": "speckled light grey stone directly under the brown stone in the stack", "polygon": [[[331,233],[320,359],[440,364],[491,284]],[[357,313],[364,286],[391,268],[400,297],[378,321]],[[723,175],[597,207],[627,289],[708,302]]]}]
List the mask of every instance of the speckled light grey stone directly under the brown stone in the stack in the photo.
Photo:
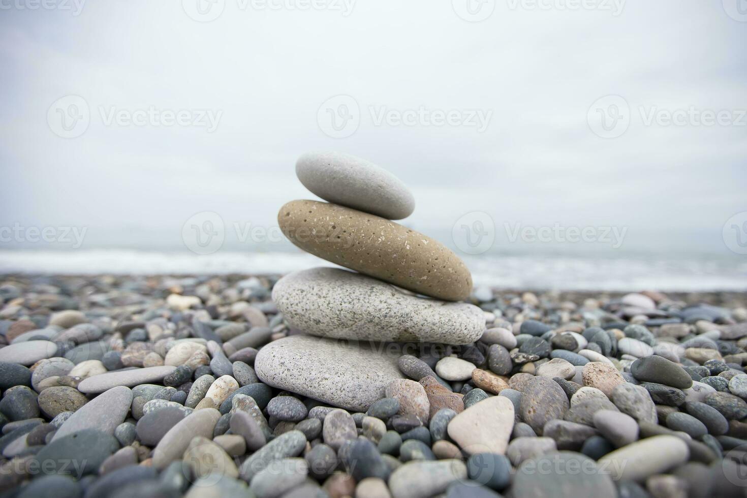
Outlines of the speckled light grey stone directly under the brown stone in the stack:
[{"label": "speckled light grey stone directly under the brown stone in the stack", "polygon": [[409,296],[338,268],[291,273],[275,284],[273,300],[291,327],[321,337],[468,344],[485,329],[477,306]]}]

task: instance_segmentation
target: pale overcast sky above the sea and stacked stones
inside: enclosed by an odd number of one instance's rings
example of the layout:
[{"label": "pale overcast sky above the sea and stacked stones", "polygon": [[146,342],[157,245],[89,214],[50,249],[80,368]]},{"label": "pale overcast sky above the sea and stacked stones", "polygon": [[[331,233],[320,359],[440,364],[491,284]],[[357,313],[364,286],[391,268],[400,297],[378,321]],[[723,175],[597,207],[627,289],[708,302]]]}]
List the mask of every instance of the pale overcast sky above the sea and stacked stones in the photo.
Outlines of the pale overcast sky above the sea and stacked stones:
[{"label": "pale overcast sky above the sea and stacked stones", "polygon": [[394,172],[434,234],[483,211],[503,239],[730,254],[747,211],[743,0],[37,1],[0,1],[2,226],[143,248],[200,211],[267,227],[314,198],[314,149]]}]

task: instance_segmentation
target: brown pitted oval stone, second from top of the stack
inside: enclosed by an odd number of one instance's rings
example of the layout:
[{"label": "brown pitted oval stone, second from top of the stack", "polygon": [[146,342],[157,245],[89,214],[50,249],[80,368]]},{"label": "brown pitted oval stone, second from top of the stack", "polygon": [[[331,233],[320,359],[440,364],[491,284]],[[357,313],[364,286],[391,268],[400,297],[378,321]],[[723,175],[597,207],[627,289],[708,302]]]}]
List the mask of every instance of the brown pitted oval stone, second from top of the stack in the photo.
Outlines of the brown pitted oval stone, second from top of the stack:
[{"label": "brown pitted oval stone, second from top of the stack", "polygon": [[[444,301],[467,299],[471,293],[472,276],[457,255],[427,235],[390,220],[299,200],[280,208],[278,224],[296,246],[350,270]],[[273,300],[285,314],[274,290]]]}]

